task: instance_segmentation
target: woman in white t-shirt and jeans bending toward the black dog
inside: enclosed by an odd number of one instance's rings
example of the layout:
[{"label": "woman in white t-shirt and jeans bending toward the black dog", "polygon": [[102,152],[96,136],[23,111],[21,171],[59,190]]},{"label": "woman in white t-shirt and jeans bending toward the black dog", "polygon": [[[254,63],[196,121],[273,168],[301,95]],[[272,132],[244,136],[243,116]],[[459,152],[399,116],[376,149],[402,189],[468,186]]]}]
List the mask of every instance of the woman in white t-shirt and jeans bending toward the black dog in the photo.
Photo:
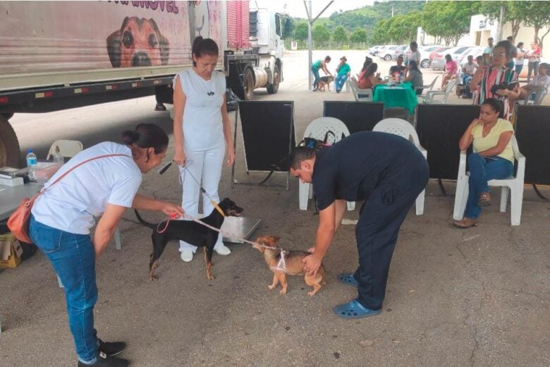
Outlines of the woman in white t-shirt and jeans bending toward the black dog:
[{"label": "woman in white t-shirt and jeans bending toward the black dog", "polygon": [[[98,339],[93,314],[95,261],[126,209],[183,215],[178,205],[138,193],[142,174],[157,167],[166,155],[166,133],[156,125],[140,124],[135,131],[124,132],[122,140],[124,144],[99,143],[75,155],[44,185],[31,211],[30,239],[50,260],[65,288],[78,366],[128,366],[126,359],[114,357],[126,344]],[[96,217],[101,218],[92,238]]]}]

